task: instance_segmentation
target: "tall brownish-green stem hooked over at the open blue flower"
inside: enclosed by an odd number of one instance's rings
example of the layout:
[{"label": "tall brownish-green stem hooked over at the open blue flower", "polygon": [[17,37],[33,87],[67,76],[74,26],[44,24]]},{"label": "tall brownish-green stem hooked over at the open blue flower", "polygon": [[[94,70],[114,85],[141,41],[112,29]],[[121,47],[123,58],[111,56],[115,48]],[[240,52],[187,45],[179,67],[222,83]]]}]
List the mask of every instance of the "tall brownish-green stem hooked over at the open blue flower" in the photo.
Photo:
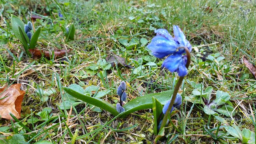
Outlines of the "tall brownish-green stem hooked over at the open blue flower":
[{"label": "tall brownish-green stem hooked over at the open blue flower", "polygon": [[[187,63],[186,63],[186,67],[188,68],[189,65],[190,65],[190,52],[189,52],[189,50],[188,50],[187,47],[179,47],[179,48],[184,48],[185,51],[186,51],[186,54],[187,54]],[[179,48],[178,48],[178,49],[179,49]],[[168,109],[167,109],[167,111],[166,111],[166,113],[165,113],[165,115],[164,115],[164,118],[163,118],[163,121],[162,121],[162,124],[161,124],[161,127],[160,127],[159,131],[161,131],[161,129],[164,128],[165,125],[166,125],[166,122],[167,122],[167,119],[168,119],[168,115],[170,114],[170,111],[171,111],[171,109],[172,109],[173,103],[174,103],[174,101],[175,101],[175,98],[176,98],[176,96],[177,96],[177,93],[178,93],[178,91],[179,91],[179,88],[180,88],[180,86],[181,86],[181,84],[182,84],[183,79],[184,79],[184,77],[180,77],[179,80],[178,80],[178,82],[177,82],[177,84],[175,85],[175,88],[174,88],[174,91],[173,91],[173,95],[172,95],[172,99],[171,99],[170,105],[169,105],[169,107],[168,107]]]}]

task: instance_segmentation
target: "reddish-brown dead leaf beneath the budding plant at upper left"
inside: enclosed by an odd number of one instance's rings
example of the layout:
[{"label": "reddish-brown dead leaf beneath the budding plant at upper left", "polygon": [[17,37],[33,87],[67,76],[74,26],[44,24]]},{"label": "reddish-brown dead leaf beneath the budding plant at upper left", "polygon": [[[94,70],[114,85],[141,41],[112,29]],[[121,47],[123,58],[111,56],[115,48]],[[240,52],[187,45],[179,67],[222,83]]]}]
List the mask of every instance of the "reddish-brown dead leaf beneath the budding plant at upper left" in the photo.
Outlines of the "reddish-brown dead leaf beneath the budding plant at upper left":
[{"label": "reddish-brown dead leaf beneath the budding plant at upper left", "polygon": [[[68,53],[70,50],[72,49],[68,49],[68,50],[59,50],[59,49],[56,49],[54,50],[54,56],[55,57],[62,57],[63,55],[65,55],[66,53]],[[29,49],[28,50],[34,58],[41,58],[42,55],[44,55],[46,58],[50,58],[52,52],[49,52],[49,51],[43,51],[43,50],[40,50],[38,48],[35,48],[35,49]]]}]

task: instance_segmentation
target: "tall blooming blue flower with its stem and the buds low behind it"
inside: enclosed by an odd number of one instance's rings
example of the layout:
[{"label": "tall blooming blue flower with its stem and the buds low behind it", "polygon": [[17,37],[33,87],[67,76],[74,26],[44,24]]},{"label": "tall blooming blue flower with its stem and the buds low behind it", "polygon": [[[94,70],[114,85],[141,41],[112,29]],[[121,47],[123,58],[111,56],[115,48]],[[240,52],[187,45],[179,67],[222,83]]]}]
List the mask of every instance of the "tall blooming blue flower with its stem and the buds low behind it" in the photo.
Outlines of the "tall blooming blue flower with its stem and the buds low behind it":
[{"label": "tall blooming blue flower with its stem and the buds low behind it", "polygon": [[176,25],[173,26],[174,37],[172,37],[166,29],[157,29],[155,33],[156,36],[147,47],[157,58],[168,56],[164,60],[162,67],[167,68],[170,72],[177,72],[180,76],[174,88],[171,100],[167,101],[163,107],[163,113],[165,115],[163,120],[161,120],[161,126],[159,126],[159,131],[161,131],[165,127],[168,115],[173,108],[181,105],[181,96],[178,94],[178,91],[184,77],[188,74],[192,46],[189,41],[186,40],[186,36],[181,29]]}]

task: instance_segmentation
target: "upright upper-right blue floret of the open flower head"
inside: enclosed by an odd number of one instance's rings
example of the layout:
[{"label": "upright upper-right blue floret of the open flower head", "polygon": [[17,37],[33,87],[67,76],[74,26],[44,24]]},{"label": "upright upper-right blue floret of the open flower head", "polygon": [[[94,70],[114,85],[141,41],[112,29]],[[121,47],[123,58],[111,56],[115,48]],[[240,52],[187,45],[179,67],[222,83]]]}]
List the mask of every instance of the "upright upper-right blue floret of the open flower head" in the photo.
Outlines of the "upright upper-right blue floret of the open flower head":
[{"label": "upright upper-right blue floret of the open flower head", "polygon": [[[192,50],[192,46],[188,40],[186,40],[186,36],[180,30],[179,26],[173,26],[173,33],[174,33],[174,41],[178,44],[179,47],[187,47],[189,52]],[[185,53],[184,49],[179,49],[178,53]]]}]

